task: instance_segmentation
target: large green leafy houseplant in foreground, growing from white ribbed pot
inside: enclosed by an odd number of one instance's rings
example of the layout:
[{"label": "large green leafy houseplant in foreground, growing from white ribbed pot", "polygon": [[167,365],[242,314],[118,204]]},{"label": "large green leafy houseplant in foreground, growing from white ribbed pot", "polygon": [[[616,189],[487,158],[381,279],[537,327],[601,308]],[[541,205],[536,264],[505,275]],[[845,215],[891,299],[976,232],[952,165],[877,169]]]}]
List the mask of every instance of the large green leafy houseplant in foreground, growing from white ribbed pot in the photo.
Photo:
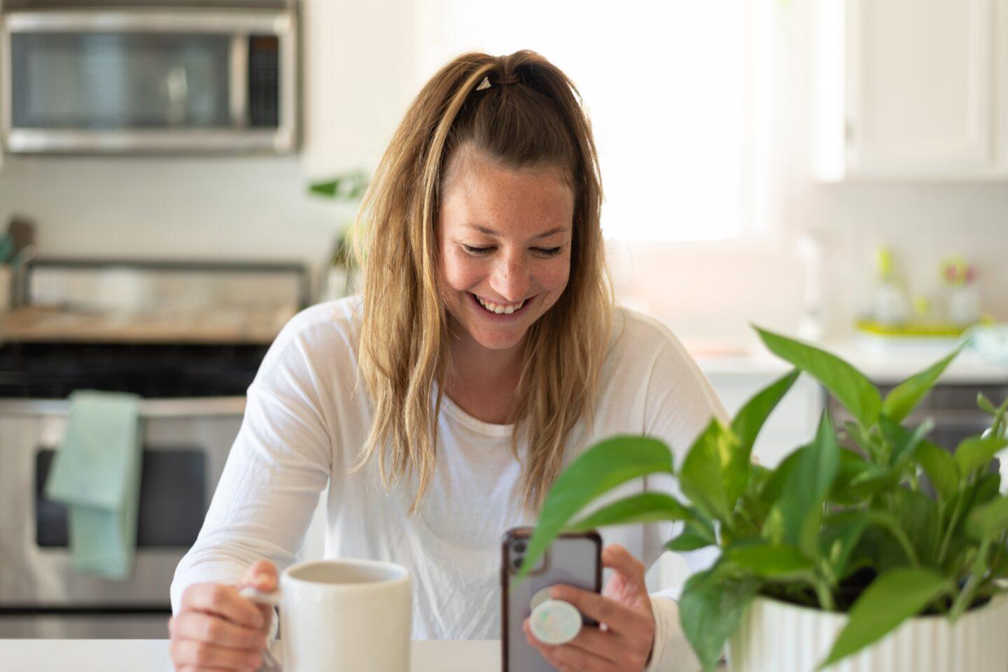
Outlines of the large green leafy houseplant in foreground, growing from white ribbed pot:
[{"label": "large green leafy houseplant in foreground, growing from white ribbed pot", "polygon": [[[1008,577],[1008,497],[999,494],[1000,477],[989,464],[1008,445],[1008,401],[995,408],[980,395],[991,428],[950,452],[927,439],[929,421],[904,422],[959,350],[883,399],[847,362],[757,330],[794,369],[750,399],[730,426],[712,420],[681,464],[646,436],[592,446],[547,495],[525,566],[563,529],[681,521],[666,548],[720,548],[714,566],[687,580],[679,602],[683,632],[708,672],[726,643],[737,643],[732,638],[755,600],[842,615],[839,635],[815,661],[821,668],[839,665],[914,617],[955,624],[970,610],[1004,601],[997,594],[998,579]],[[835,427],[827,410],[807,444],[775,468],[754,464],[760,428],[802,372],[853,419]],[[673,474],[683,501],[642,493],[583,514],[600,495],[655,473]],[[798,669],[784,662],[766,669]]]}]

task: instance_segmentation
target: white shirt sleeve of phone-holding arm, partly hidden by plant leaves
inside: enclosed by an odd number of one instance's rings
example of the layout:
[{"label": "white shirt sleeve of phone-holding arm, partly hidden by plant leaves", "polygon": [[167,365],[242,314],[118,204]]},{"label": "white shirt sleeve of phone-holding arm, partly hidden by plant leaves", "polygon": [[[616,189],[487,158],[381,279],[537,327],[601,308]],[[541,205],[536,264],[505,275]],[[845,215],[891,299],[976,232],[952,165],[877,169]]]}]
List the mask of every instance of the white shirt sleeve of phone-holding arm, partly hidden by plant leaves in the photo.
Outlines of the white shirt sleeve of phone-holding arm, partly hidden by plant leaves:
[{"label": "white shirt sleeve of phone-holding arm, partly hidden by plant leaves", "polygon": [[[694,359],[670,331],[662,330],[665,341],[654,356],[645,392],[643,433],[665,441],[678,467],[712,418],[726,424],[730,418]],[[677,481],[668,475],[648,477],[645,488],[682,501]],[[681,527],[681,523],[670,522],[644,526],[642,559],[645,566],[657,560],[664,544],[674,538]],[[696,572],[710,567],[718,557],[718,550],[705,548],[680,555]],[[678,592],[678,588],[670,588],[651,594],[655,638],[645,672],[697,672],[702,668],[679,624],[679,608],[675,601]]]}]

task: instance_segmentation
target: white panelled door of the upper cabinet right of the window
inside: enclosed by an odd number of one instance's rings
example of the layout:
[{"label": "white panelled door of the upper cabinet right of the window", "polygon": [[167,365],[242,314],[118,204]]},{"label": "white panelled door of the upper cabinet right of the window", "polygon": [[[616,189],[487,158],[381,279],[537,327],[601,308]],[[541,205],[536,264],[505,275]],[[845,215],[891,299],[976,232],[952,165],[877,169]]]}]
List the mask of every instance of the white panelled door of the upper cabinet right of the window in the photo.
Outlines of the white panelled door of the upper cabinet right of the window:
[{"label": "white panelled door of the upper cabinet right of the window", "polygon": [[993,167],[994,0],[848,0],[847,159],[863,175]]}]

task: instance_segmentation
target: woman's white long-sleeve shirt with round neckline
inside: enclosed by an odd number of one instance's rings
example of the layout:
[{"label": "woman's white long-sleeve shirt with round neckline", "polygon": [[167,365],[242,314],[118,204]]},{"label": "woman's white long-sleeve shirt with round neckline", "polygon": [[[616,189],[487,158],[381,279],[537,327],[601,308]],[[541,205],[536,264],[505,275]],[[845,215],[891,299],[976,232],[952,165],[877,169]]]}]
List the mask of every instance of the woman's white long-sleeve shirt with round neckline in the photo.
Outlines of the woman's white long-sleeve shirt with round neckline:
[{"label": "woman's white long-sleeve shirt with round neckline", "polygon": [[[447,396],[437,418],[437,458],[422,508],[408,515],[414,489],[386,493],[374,460],[348,474],[373,422],[358,376],[361,301],[350,297],[309,307],[282,329],[248,389],[241,430],[207,519],[175,570],[172,609],[201,581],[233,583],[261,558],[282,570],[297,560],[327,487],[326,557],[404,565],[413,576],[413,639],[500,638],[500,543],[518,525],[534,525],[522,508],[521,465],[511,425],[470,416]],[[613,434],[664,440],[681,463],[713,415],[725,419],[704,374],[659,322],[617,309],[602,370],[595,421],[568,442],[564,464]],[[677,495],[671,478],[648,477],[634,492]],[[675,533],[671,523],[604,528],[606,544],[625,546],[645,566]],[[656,637],[649,670],[697,669],[681,636],[675,602],[652,595]]]}]

